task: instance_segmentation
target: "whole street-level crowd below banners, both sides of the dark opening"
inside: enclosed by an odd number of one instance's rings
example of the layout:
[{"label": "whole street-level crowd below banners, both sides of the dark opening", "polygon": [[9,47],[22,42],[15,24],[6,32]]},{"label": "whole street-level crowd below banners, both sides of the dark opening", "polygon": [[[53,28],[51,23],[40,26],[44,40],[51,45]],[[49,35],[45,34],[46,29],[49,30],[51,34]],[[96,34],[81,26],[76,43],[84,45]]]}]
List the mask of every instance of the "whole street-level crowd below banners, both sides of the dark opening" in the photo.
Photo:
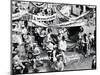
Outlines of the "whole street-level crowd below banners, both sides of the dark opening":
[{"label": "whole street-level crowd below banners, both sides of the dark opening", "polygon": [[[43,65],[40,55],[46,52],[48,60],[53,63],[56,62],[55,70],[64,70],[68,40],[67,28],[58,29],[58,33],[54,33],[52,28],[26,27],[24,24],[21,30],[22,32],[12,32],[13,68],[21,66],[24,69],[24,64],[29,61],[28,65],[30,64],[30,66],[28,67],[35,70],[37,68],[37,61]],[[91,54],[92,50],[94,52],[96,50],[95,39],[92,33],[81,35],[80,32],[79,40],[75,44],[74,49],[82,53],[84,57],[87,57]]]}]

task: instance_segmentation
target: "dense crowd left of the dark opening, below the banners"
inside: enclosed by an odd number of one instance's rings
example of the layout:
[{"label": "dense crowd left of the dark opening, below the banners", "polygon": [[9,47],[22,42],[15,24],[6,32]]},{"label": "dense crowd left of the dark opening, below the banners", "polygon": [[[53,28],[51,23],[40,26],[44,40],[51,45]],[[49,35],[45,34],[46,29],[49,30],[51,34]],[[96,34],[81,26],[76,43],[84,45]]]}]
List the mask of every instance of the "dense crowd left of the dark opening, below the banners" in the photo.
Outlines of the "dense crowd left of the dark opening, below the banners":
[{"label": "dense crowd left of the dark opening, below the banners", "polygon": [[[26,29],[24,33],[23,27]],[[46,52],[49,60],[52,62],[57,60],[60,62],[60,58],[58,57],[61,54],[64,63],[66,63],[64,54],[67,49],[67,36],[64,36],[66,31],[64,32],[63,29],[60,29],[58,34],[54,34],[52,28],[30,28],[25,27],[25,25],[22,25],[21,30],[22,32],[12,32],[12,57],[14,66],[20,65],[24,68],[22,64],[23,60],[30,60],[32,68],[35,69],[35,61],[38,60],[39,63],[41,62],[39,60],[41,52]]]}]

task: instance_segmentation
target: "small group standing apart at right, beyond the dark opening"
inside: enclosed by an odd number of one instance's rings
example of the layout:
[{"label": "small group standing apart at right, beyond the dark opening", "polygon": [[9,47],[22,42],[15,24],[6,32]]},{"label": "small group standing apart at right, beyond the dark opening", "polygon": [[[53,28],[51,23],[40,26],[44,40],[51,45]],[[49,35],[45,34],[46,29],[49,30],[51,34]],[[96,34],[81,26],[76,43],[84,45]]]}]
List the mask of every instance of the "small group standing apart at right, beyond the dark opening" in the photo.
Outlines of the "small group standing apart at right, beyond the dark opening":
[{"label": "small group standing apart at right, beyond the dark opening", "polygon": [[79,41],[78,41],[78,45],[79,45],[79,50],[82,50],[82,54],[84,56],[90,55],[91,52],[96,52],[95,47],[96,47],[96,43],[95,43],[95,39],[96,37],[94,36],[95,33],[89,33],[86,34],[84,33],[83,35],[79,35]]}]

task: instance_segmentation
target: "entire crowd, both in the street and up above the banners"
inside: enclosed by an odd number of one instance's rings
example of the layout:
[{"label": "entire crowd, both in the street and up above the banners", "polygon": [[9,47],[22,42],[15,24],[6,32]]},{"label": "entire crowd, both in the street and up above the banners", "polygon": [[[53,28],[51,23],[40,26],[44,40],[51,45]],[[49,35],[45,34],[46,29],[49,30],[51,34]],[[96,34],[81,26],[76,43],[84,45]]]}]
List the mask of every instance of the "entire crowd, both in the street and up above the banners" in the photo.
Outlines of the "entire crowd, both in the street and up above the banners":
[{"label": "entire crowd, both in the street and up above the banners", "polygon": [[[13,3],[13,13],[27,10],[28,12],[40,16],[53,15],[52,9],[40,10],[38,7],[31,11],[30,7],[21,8],[20,1]],[[29,11],[30,10],[30,11]],[[44,12],[43,12],[44,11]],[[50,22],[48,22],[50,23]],[[63,71],[66,66],[66,54],[68,51],[69,31],[67,27],[42,27],[29,25],[28,20],[15,20],[12,22],[12,73],[26,74],[39,72],[39,67],[44,65],[46,60],[42,55],[47,55],[49,68],[53,71]],[[93,68],[95,67],[96,55],[96,30],[94,33],[78,32],[78,40],[73,46],[73,50],[88,57],[93,57]]]}]

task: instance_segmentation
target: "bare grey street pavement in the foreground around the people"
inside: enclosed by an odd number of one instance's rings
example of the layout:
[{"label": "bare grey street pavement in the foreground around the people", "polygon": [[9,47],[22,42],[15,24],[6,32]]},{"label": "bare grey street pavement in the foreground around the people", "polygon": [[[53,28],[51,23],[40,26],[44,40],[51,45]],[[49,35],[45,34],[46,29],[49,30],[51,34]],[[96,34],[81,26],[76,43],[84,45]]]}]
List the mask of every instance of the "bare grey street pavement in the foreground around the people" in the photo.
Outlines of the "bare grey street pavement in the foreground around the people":
[{"label": "bare grey street pavement in the foreground around the people", "polygon": [[[48,57],[45,57],[45,59],[48,59]],[[65,66],[64,70],[81,70],[81,69],[91,69],[92,65],[92,57],[84,58],[81,54],[75,53],[75,52],[67,52],[66,53],[66,60],[67,65]],[[50,66],[48,66],[48,61],[43,61],[45,64],[43,67],[39,67],[39,72],[50,72],[52,69],[50,69]]]}]

